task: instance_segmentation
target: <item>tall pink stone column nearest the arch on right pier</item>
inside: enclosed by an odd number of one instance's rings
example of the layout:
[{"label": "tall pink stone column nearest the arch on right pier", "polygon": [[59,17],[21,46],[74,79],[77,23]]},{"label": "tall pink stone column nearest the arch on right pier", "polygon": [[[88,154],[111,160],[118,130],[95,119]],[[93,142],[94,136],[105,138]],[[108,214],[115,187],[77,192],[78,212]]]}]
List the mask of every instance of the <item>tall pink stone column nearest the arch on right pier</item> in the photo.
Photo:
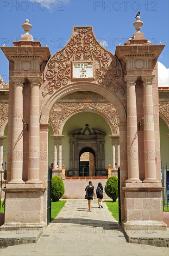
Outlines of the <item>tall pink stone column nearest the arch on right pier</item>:
[{"label": "tall pink stone column nearest the arch on right pier", "polygon": [[127,162],[128,179],[125,182],[141,182],[138,168],[138,123],[135,85],[137,76],[125,75],[127,86]]}]

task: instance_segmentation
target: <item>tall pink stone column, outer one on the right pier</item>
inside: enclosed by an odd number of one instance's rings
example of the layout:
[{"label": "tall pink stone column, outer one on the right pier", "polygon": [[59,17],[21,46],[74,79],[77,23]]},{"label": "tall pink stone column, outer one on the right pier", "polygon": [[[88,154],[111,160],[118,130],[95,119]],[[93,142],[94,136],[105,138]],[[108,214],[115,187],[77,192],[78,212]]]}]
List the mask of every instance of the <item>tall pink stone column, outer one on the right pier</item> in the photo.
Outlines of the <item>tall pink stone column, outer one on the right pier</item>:
[{"label": "tall pink stone column, outer one on the right pier", "polygon": [[145,179],[143,182],[159,182],[156,179],[156,158],[155,158],[155,133],[154,122],[152,121],[153,95],[152,81],[155,75],[142,75],[144,86],[144,169]]}]

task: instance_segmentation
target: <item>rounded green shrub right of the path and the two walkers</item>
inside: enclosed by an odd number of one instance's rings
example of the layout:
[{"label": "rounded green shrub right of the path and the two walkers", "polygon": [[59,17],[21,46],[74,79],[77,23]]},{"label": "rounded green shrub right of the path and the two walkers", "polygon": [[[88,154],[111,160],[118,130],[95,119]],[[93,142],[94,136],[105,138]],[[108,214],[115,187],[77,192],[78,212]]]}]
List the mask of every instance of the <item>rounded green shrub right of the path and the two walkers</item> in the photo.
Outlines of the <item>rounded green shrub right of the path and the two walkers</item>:
[{"label": "rounded green shrub right of the path and the two walkers", "polygon": [[105,185],[105,193],[110,198],[113,199],[113,202],[116,202],[118,198],[118,178],[115,176],[110,177]]}]

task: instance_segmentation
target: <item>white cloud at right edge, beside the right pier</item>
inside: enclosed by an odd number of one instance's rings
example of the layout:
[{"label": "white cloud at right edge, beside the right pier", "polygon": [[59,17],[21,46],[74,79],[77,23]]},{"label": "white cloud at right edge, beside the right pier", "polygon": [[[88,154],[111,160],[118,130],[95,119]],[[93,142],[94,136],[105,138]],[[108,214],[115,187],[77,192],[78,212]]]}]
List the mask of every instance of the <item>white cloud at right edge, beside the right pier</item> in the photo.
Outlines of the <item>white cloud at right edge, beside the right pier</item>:
[{"label": "white cloud at right edge, beside the right pier", "polygon": [[158,61],[158,87],[169,87],[169,68]]}]

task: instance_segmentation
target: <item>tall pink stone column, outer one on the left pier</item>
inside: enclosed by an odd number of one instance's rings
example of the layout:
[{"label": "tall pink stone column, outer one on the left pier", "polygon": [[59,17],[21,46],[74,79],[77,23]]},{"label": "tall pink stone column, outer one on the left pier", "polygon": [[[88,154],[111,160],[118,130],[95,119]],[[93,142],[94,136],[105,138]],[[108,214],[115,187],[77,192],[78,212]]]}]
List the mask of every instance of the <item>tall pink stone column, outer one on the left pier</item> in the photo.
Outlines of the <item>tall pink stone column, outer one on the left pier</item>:
[{"label": "tall pink stone column, outer one on the left pier", "polygon": [[13,95],[13,131],[12,131],[12,165],[11,165],[11,181],[9,184],[25,183],[22,180],[23,170],[23,84],[24,77],[11,77],[14,82]]}]

